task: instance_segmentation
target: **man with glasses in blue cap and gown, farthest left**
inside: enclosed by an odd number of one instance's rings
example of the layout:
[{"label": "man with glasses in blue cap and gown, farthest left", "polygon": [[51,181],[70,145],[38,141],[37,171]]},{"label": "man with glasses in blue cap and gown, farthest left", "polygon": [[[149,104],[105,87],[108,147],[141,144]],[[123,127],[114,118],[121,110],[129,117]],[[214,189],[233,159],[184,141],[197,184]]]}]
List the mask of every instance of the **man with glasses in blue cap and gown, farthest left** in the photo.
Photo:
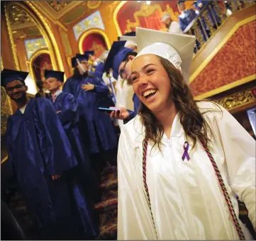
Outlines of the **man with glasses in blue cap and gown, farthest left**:
[{"label": "man with glasses in blue cap and gown, farthest left", "polygon": [[1,86],[18,105],[8,119],[6,141],[28,212],[41,239],[91,239],[99,231],[90,206],[77,181],[67,178],[77,160],[50,100],[28,100],[27,76],[1,73]]}]

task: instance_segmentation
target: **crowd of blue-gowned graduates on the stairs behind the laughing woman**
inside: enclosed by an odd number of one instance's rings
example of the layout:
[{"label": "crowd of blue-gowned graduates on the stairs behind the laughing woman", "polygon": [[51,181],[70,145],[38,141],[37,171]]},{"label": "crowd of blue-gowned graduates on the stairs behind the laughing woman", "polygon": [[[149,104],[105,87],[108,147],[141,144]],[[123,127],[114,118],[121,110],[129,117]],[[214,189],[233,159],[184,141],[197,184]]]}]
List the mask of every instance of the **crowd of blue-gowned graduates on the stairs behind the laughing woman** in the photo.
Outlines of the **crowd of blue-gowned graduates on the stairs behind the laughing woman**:
[{"label": "crowd of blue-gowned graduates on the stairs behind the laughing woman", "polygon": [[[133,36],[124,38],[129,40],[113,42],[98,59],[91,51],[76,54],[74,74],[65,83],[64,72],[45,70],[48,95],[29,99],[28,72],[1,72],[1,86],[18,106],[7,123],[9,161],[39,238],[89,240],[99,235],[93,206],[101,201],[100,175],[104,167],[116,165],[118,126],[135,117],[139,105],[126,81],[136,44]],[[132,110],[126,109],[133,101]],[[121,107],[99,110],[115,106]]]}]

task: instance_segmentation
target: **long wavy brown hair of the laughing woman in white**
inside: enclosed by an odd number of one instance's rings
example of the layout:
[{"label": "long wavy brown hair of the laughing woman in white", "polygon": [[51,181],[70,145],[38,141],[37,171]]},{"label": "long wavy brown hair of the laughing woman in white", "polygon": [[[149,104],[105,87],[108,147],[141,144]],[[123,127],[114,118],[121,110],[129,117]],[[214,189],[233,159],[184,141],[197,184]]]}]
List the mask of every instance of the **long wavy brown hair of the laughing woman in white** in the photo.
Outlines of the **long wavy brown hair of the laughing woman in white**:
[{"label": "long wavy brown hair of the laughing woman in white", "polygon": [[[196,105],[198,101],[193,99],[191,90],[184,81],[182,74],[167,59],[159,58],[171,81],[174,104],[180,113],[180,123],[184,129],[186,139],[191,139],[193,148],[196,145],[196,138],[208,146],[210,141],[208,131],[211,133],[211,129],[203,114],[210,110],[206,110],[206,112],[199,111],[199,107]],[[162,124],[143,103],[140,105],[139,114],[145,126],[145,138],[154,141],[154,146],[157,145],[161,151],[161,139],[164,134]]]}]

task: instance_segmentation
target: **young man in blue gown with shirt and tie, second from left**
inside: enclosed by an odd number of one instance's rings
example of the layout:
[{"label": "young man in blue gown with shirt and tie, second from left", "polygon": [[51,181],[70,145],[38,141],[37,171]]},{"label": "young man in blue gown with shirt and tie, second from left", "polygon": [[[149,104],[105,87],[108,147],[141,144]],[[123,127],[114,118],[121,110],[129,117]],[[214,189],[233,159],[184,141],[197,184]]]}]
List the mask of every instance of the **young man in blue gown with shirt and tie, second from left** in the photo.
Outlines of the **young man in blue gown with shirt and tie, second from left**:
[{"label": "young man in blue gown with shirt and tie, second from left", "polygon": [[99,186],[96,183],[96,177],[91,167],[87,148],[85,148],[77,128],[79,119],[77,103],[72,94],[62,92],[61,86],[63,82],[64,72],[45,70],[45,86],[51,93],[50,101],[55,107],[57,116],[72,146],[72,151],[74,151],[77,162],[79,163],[74,171],[74,175],[78,174],[88,199],[96,203],[99,201]]}]

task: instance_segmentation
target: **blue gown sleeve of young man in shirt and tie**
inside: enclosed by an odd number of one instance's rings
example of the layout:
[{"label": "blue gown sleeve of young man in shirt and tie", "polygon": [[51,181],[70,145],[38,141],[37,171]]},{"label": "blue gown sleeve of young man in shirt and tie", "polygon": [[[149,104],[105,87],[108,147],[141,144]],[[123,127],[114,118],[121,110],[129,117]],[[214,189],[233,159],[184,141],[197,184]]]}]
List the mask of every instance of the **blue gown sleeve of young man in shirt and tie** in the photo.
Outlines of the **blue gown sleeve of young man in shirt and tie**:
[{"label": "blue gown sleeve of young man in shirt and tie", "polygon": [[77,103],[74,100],[73,95],[67,95],[64,103],[62,103],[61,112],[57,113],[57,116],[62,122],[62,125],[67,124],[69,122],[74,122],[74,119],[77,114]]}]

